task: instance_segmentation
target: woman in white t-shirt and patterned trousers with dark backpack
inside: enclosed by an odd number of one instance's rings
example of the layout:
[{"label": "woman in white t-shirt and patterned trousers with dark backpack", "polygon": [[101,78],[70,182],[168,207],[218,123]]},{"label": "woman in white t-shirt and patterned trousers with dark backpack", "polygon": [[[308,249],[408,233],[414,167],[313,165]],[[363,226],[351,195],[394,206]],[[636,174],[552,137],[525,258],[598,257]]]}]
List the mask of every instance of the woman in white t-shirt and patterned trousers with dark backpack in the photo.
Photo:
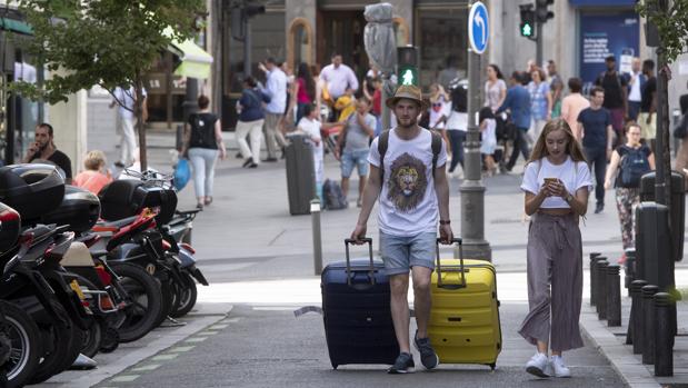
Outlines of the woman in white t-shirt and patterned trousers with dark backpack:
[{"label": "woman in white t-shirt and patterned trousers with dark backpack", "polygon": [[[640,142],[640,126],[629,122],[626,126],[626,143],[611,152],[611,161],[605,176],[605,189],[611,188],[616,176],[617,209],[621,223],[624,250],[634,248],[634,208],[640,203],[640,177],[655,169],[655,155],[647,145]],[[626,261],[626,253],[619,260]]]}]

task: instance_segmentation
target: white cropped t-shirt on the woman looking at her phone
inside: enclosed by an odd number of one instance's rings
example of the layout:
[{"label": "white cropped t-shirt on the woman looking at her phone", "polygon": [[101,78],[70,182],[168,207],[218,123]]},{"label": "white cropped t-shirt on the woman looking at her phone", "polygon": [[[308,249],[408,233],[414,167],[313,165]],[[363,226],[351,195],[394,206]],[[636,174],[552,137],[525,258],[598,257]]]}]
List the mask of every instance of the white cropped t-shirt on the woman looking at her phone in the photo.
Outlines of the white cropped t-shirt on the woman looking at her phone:
[{"label": "white cropped t-shirt on the woman looking at her phone", "polygon": [[[567,157],[561,165],[550,163],[547,157],[528,163],[524,173],[521,190],[537,195],[545,182],[545,178],[559,178],[564,182],[566,190],[571,195],[576,195],[576,191],[582,187],[587,187],[588,191],[592,190],[592,179],[590,179],[588,163],[585,161],[574,163],[571,157]],[[540,208],[558,209],[570,208],[570,206],[561,197],[548,197],[542,201]]]}]

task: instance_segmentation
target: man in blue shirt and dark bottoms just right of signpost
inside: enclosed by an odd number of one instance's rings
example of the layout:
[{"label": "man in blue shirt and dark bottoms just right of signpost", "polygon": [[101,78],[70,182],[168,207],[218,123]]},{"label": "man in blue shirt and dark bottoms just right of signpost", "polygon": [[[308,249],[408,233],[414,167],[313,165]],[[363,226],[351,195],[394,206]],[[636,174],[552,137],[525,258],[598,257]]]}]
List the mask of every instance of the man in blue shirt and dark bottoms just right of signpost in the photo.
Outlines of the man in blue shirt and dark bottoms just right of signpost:
[{"label": "man in blue shirt and dark bottoms just right of signpost", "polygon": [[511,73],[509,79],[510,88],[507,91],[507,98],[497,109],[496,113],[501,113],[507,109],[511,112],[511,121],[516,126],[513,133],[513,150],[511,157],[505,166],[507,171],[511,171],[518,159],[518,152],[528,160],[528,140],[526,139],[528,128],[530,128],[530,93],[521,84],[521,74],[518,71]]}]

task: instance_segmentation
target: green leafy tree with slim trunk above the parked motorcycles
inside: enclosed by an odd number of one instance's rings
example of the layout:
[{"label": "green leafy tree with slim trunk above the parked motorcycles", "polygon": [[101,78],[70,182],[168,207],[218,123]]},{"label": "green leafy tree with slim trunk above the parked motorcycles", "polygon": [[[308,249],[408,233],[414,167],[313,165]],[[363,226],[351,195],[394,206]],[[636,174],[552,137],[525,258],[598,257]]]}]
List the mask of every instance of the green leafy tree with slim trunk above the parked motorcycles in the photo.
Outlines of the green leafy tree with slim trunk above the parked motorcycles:
[{"label": "green leafy tree with slim trunk above the parked motorcycles", "polygon": [[51,76],[41,84],[19,81],[12,88],[32,100],[56,103],[96,84],[110,93],[118,86],[132,86],[144,170],[143,77],[173,39],[193,37],[197,18],[206,13],[205,1],[20,0],[19,8],[33,28],[28,51]]}]

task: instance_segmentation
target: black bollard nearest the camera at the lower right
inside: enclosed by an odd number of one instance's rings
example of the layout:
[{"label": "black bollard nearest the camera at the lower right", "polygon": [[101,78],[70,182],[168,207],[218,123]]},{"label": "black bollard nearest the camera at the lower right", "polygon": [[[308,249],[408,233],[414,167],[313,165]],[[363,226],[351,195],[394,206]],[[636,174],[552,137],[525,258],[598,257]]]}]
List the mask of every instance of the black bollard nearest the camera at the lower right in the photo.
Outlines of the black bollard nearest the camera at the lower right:
[{"label": "black bollard nearest the camera at the lower right", "polygon": [[655,376],[674,376],[672,306],[669,294],[655,294]]}]

